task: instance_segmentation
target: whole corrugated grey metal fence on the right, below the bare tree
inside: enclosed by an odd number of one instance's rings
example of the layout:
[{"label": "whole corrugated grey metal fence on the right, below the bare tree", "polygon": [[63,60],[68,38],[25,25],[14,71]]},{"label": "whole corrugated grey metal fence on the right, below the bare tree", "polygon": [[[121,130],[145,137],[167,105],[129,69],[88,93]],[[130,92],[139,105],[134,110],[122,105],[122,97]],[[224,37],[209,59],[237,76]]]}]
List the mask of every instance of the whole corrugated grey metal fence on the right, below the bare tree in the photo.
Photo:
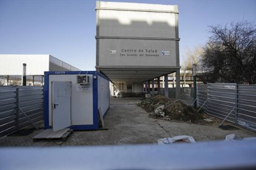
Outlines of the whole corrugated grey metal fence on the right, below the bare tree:
[{"label": "whole corrugated grey metal fence on the right, below the bare tree", "polygon": [[209,83],[197,86],[197,105],[208,115],[256,131],[256,85]]}]

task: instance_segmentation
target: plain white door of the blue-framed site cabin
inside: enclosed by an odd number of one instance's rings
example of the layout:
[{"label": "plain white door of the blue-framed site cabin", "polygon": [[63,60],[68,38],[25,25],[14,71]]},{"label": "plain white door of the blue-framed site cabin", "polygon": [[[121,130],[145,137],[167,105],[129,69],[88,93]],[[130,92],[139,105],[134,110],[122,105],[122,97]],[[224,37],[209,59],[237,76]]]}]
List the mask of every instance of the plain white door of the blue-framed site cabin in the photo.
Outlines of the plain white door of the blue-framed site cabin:
[{"label": "plain white door of the blue-framed site cabin", "polygon": [[71,82],[53,81],[53,131],[71,125]]}]

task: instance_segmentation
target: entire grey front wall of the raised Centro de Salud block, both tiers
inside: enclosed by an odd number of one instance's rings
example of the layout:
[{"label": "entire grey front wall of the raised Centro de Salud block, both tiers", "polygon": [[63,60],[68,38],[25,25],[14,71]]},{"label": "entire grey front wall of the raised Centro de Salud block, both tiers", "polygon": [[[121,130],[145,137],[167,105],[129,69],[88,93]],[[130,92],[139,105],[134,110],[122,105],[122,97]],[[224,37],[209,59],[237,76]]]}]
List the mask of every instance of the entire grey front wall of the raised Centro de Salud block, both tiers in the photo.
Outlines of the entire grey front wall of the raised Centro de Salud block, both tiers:
[{"label": "entire grey front wall of the raised Centro de Salud block, both tiers", "polygon": [[96,9],[96,65],[179,66],[177,6],[98,2]]}]

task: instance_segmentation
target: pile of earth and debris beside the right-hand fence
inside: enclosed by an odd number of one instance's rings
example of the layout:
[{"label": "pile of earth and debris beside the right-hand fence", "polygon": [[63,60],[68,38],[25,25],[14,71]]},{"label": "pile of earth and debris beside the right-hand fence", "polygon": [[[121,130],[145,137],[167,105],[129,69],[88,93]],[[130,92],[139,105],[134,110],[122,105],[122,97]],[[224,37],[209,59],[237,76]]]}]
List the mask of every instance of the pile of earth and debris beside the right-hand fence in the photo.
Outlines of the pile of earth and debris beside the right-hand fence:
[{"label": "pile of earth and debris beside the right-hand fence", "polygon": [[138,106],[150,112],[150,117],[152,118],[163,118],[189,123],[200,123],[204,118],[202,111],[197,113],[197,110],[194,110],[191,106],[187,106],[180,100],[169,99],[163,95],[143,99]]}]

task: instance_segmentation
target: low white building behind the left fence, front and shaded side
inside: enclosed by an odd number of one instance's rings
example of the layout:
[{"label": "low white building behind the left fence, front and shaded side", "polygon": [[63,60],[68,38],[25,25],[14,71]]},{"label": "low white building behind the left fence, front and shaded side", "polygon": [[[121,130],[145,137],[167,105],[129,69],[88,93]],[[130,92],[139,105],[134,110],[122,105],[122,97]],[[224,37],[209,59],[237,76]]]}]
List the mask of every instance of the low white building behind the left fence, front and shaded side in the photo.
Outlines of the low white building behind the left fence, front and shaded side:
[{"label": "low white building behind the left fence, front and shaded side", "polygon": [[49,54],[0,54],[0,86],[20,86],[23,63],[27,86],[42,86],[45,71],[79,71]]}]

